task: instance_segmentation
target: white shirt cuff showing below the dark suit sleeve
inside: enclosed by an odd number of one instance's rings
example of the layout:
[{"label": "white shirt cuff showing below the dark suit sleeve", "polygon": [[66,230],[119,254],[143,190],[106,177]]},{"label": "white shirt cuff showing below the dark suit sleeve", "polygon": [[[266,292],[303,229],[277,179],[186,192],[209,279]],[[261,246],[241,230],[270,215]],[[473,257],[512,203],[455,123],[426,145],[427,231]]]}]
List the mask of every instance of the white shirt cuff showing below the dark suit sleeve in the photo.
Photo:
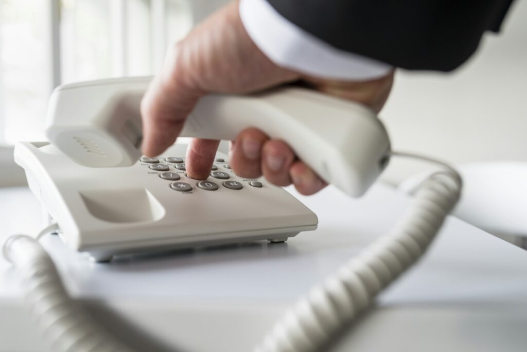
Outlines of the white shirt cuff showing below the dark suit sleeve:
[{"label": "white shirt cuff showing below the dark suit sleeve", "polygon": [[393,69],[327,44],[289,22],[266,0],[241,0],[239,11],[252,41],[281,67],[309,76],[354,81],[376,79]]}]

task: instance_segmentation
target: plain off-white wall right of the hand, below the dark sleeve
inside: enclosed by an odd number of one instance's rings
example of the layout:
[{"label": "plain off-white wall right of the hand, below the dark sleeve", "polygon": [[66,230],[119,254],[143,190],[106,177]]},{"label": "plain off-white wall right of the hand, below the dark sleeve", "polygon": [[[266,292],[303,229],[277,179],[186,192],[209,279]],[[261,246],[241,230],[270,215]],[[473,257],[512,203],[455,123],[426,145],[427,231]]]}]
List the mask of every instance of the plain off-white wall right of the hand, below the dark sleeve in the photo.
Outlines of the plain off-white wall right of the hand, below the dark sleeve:
[{"label": "plain off-white wall right of the hand, below the dark sleeve", "polygon": [[[394,149],[454,163],[527,162],[527,1],[516,0],[502,32],[451,74],[399,71],[381,112]],[[392,160],[397,182],[422,164]]]}]

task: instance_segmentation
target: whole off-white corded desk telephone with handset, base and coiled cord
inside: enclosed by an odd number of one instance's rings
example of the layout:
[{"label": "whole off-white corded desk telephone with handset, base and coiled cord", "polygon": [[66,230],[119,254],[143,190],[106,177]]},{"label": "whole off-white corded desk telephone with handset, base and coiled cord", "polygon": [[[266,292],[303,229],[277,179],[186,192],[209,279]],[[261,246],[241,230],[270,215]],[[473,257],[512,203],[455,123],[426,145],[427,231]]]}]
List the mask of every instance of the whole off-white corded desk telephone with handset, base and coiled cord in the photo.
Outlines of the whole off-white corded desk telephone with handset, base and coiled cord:
[{"label": "whole off-white corded desk telephone with handset, base and coiled cord", "polygon": [[[56,221],[37,238],[58,231],[71,248],[108,260],[167,247],[284,241],[316,228],[313,212],[265,179],[238,177],[226,155],[217,154],[216,169],[205,181],[187,177],[183,145],[158,158],[141,158],[139,103],[149,80],[70,84],[53,92],[46,130],[50,142],[15,146],[15,161]],[[384,126],[366,107],[292,86],[205,96],[181,135],[234,139],[249,126],[285,140],[321,178],[351,196],[362,195],[394,155],[436,162],[391,151]],[[423,255],[461,191],[455,170],[437,163],[446,171],[418,185],[407,216],[301,298],[257,351],[324,348]],[[26,279],[27,302],[41,315],[37,320],[56,350],[130,350],[67,296],[52,260],[34,238],[9,238],[4,256]]]}]

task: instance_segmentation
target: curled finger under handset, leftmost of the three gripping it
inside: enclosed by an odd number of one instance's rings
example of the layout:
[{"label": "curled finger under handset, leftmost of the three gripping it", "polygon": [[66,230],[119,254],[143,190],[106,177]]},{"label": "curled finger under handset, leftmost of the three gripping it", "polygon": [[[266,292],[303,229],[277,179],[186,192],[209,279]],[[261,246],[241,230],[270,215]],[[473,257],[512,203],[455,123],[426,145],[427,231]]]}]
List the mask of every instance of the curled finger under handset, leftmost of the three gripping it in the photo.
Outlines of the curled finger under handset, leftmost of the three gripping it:
[{"label": "curled finger under handset, leftmost of the three gripping it", "polygon": [[230,158],[232,170],[241,177],[260,177],[261,151],[268,139],[267,135],[255,128],[243,130],[238,134]]}]

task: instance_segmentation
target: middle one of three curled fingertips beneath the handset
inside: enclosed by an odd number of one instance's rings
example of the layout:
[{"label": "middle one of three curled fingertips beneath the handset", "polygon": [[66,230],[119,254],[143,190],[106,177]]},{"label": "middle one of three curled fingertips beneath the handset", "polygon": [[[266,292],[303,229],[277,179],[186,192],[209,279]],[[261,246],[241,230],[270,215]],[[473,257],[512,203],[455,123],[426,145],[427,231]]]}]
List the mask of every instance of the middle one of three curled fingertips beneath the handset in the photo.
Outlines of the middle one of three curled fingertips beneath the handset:
[{"label": "middle one of three curled fingertips beneath the handset", "polygon": [[289,166],[295,160],[295,153],[280,140],[269,140],[262,149],[261,168],[267,181],[279,186],[291,184]]}]

